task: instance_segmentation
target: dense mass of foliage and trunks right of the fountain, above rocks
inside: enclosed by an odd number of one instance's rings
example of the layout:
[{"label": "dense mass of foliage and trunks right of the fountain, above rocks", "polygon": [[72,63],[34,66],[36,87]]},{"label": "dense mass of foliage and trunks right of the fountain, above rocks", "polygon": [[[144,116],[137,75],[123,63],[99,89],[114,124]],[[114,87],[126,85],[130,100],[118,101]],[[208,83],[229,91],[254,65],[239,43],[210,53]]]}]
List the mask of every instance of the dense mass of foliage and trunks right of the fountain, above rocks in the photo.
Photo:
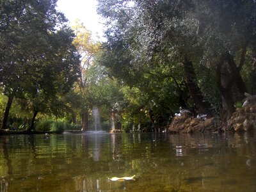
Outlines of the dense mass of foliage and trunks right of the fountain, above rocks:
[{"label": "dense mass of foliage and trunks right of the fountain, above rocks", "polygon": [[129,121],[139,124],[140,113],[166,123],[179,106],[225,120],[244,92],[255,93],[255,1],[98,2],[100,63],[129,86]]}]

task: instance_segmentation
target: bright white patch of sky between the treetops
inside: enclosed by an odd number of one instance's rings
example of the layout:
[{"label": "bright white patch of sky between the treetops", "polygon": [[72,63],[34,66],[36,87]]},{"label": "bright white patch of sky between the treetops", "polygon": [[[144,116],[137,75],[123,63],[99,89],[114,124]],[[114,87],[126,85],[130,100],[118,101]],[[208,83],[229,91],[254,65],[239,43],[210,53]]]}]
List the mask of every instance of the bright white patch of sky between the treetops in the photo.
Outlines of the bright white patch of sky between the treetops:
[{"label": "bright white patch of sky between the treetops", "polygon": [[65,14],[72,26],[76,19],[80,19],[84,26],[102,37],[102,24],[97,15],[96,0],[58,0],[58,10]]}]

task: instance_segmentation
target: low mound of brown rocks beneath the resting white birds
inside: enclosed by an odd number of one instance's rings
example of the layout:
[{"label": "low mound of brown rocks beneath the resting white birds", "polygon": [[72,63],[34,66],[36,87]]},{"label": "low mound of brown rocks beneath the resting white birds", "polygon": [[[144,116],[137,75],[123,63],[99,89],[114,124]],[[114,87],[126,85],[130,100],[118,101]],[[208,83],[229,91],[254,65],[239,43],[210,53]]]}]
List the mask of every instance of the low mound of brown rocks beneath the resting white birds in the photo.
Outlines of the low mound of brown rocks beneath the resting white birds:
[{"label": "low mound of brown rocks beneath the resting white birds", "polygon": [[170,125],[169,132],[205,132],[221,131],[221,120],[212,117],[206,120],[194,118],[193,116],[175,116]]}]

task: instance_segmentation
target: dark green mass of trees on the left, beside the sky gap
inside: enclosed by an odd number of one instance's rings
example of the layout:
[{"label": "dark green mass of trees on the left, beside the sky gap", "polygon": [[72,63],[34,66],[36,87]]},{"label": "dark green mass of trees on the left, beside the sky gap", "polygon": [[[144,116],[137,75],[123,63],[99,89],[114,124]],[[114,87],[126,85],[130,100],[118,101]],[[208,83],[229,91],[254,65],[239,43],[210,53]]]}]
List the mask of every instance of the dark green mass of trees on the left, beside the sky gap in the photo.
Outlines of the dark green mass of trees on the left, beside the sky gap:
[{"label": "dark green mass of trees on the left, beside the sky gap", "polygon": [[[2,129],[13,103],[33,114],[57,113],[58,101],[79,77],[79,56],[56,1],[1,1],[0,82],[6,95]],[[18,116],[18,115],[17,115]]]}]

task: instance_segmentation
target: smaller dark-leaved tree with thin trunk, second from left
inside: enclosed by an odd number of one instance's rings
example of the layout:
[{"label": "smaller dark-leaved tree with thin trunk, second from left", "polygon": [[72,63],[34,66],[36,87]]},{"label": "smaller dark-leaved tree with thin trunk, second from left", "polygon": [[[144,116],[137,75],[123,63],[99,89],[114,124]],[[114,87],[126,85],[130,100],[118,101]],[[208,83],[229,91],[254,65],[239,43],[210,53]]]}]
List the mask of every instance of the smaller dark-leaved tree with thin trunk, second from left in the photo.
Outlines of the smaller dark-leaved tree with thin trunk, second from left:
[{"label": "smaller dark-leaved tree with thin trunk, second from left", "polygon": [[26,100],[34,111],[30,130],[38,112],[59,111],[58,97],[67,93],[79,77],[79,56],[72,45],[73,38],[70,29],[53,33],[48,42],[52,49],[28,68],[28,74],[33,74],[24,79]]}]

